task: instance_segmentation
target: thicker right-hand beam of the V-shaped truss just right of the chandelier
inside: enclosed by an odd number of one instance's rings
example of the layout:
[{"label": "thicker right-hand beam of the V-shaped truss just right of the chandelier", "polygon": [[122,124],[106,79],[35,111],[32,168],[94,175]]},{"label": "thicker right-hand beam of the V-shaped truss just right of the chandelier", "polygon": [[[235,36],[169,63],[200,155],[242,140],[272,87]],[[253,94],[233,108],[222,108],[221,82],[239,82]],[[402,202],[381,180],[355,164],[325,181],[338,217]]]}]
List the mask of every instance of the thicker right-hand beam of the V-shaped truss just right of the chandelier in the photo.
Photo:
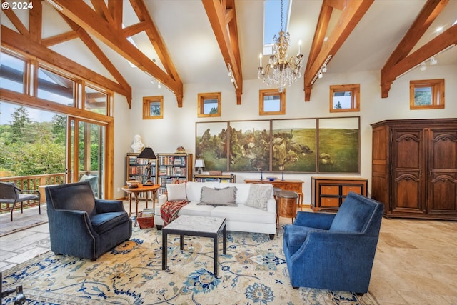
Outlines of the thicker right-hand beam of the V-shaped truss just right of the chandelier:
[{"label": "thicker right-hand beam of the V-shaped truss just right of the chandelier", "polygon": [[[344,9],[340,19],[337,22],[337,25],[335,26],[335,29],[333,29],[331,34],[328,36],[326,43],[322,44],[322,47],[319,49],[314,61],[306,64],[307,69],[304,75],[305,101],[310,101],[311,99],[311,89],[313,88],[313,82],[316,81],[316,75],[321,70],[323,64],[326,62],[328,63],[331,57],[335,56],[336,52],[340,49],[344,41],[346,41],[348,36],[356,27],[358,21],[360,21],[363,15],[366,14],[366,11],[368,11],[374,0],[340,1],[344,3]],[[328,8],[326,8],[326,6],[330,6],[328,1],[324,1],[322,6],[323,7],[321,9],[321,13],[322,11],[324,12],[321,14],[321,16],[327,16],[328,12],[326,11]],[[333,4],[333,6],[336,6],[336,4]]]}]

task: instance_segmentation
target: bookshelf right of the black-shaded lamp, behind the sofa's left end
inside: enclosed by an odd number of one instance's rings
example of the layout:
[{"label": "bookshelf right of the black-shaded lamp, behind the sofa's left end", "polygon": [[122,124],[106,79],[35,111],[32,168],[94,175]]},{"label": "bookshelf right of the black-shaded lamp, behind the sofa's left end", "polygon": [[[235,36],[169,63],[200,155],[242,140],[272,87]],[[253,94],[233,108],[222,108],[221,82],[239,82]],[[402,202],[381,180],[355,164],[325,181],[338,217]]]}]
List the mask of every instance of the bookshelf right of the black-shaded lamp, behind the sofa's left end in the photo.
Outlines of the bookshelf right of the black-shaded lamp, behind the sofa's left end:
[{"label": "bookshelf right of the black-shaded lamp, behind the sofa's left end", "polygon": [[191,181],[192,154],[156,154],[156,183],[160,184],[157,196],[166,193],[166,184],[176,180]]}]

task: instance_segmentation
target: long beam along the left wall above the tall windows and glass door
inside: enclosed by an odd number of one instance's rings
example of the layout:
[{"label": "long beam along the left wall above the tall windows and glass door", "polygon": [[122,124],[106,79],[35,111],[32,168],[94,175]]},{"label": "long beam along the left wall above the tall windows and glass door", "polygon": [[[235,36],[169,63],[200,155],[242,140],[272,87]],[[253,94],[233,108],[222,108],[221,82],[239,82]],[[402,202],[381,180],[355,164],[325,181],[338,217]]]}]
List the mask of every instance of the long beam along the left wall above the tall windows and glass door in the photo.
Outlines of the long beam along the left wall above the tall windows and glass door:
[{"label": "long beam along the left wall above the tall windows and glass door", "polygon": [[96,74],[85,66],[82,66],[71,59],[67,59],[65,56],[62,56],[55,51],[38,44],[36,41],[32,41],[29,37],[21,35],[3,25],[1,26],[1,44],[2,46],[14,49],[15,51],[21,51],[24,56],[36,58],[51,64],[52,66],[69,71],[71,74],[91,81],[94,84],[104,86],[106,89],[115,91],[123,96],[131,96],[131,90],[126,91],[124,87],[117,84],[115,81],[111,81],[111,79]]}]

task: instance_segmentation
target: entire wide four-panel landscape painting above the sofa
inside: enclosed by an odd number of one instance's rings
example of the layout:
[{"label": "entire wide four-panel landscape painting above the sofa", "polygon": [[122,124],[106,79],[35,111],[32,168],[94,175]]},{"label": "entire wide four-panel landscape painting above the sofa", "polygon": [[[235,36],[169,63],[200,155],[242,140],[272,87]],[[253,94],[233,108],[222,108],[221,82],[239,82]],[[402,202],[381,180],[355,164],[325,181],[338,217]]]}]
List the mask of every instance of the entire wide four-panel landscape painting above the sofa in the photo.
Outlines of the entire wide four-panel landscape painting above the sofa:
[{"label": "entire wide four-panel landscape painting above the sofa", "polygon": [[196,123],[204,171],[360,173],[360,117]]}]

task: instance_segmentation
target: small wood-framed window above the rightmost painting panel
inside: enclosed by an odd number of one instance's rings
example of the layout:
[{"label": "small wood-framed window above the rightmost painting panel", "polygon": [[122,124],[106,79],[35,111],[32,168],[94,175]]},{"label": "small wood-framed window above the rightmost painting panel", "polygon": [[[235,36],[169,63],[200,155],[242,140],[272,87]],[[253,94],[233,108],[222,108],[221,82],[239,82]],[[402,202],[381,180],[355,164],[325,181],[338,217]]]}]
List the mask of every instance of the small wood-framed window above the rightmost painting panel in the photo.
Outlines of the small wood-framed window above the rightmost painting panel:
[{"label": "small wood-framed window above the rightmost painting panel", "polygon": [[330,86],[330,112],[360,111],[360,84]]}]

